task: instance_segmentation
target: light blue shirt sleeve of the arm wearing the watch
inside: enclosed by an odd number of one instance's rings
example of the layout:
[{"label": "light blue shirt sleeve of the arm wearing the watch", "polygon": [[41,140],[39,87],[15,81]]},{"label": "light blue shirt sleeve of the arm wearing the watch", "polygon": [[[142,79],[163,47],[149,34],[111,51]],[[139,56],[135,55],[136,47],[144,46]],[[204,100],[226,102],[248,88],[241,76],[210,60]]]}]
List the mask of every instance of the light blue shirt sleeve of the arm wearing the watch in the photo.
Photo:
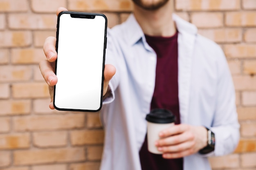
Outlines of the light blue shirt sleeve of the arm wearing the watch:
[{"label": "light blue shirt sleeve of the arm wearing the watch", "polygon": [[218,49],[218,84],[216,111],[210,129],[215,134],[215,156],[233,152],[238,144],[240,125],[236,113],[236,95],[226,57]]}]

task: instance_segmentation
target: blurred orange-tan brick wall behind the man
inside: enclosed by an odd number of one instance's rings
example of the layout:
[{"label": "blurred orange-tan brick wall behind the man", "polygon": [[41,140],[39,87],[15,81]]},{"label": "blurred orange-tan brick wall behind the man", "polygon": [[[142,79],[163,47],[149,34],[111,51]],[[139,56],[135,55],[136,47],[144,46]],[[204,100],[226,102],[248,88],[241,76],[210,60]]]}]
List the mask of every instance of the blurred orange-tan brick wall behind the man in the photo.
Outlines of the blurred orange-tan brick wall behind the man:
[{"label": "blurred orange-tan brick wall behind the man", "polygon": [[[0,170],[98,170],[98,113],[50,110],[38,63],[56,31],[57,7],[126,20],[130,0],[0,0]],[[175,11],[225,51],[236,87],[241,139],[211,158],[214,170],[256,170],[256,0],[175,0]]]}]

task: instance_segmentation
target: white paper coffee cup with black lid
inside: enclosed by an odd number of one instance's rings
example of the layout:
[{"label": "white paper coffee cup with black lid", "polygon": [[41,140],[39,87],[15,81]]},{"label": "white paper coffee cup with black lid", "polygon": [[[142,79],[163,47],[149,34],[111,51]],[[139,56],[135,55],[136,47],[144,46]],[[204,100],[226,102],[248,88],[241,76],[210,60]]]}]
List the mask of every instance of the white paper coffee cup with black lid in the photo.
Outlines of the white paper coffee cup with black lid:
[{"label": "white paper coffee cup with black lid", "polygon": [[167,109],[153,109],[146,115],[148,121],[148,151],[154,154],[162,154],[155,146],[155,141],[160,139],[159,132],[174,125],[175,116]]}]

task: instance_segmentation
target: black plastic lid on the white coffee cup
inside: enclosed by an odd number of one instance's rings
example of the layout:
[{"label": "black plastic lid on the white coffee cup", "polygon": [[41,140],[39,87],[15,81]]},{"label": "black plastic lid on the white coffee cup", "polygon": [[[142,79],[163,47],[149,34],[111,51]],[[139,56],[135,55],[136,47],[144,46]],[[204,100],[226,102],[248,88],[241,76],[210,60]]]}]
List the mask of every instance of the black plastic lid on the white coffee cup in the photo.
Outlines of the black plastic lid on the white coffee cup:
[{"label": "black plastic lid on the white coffee cup", "polygon": [[157,124],[168,124],[175,122],[175,115],[170,110],[156,108],[146,115],[146,120]]}]

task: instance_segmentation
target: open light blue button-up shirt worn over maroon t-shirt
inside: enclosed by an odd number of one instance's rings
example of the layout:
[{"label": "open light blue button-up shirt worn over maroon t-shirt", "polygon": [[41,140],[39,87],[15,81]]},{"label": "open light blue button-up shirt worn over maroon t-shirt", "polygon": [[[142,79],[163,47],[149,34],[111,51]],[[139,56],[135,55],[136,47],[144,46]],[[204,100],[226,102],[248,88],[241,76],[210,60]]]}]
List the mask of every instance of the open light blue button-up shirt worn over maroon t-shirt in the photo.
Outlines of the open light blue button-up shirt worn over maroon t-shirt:
[{"label": "open light blue button-up shirt worn over maroon t-shirt", "polygon": [[[173,15],[178,35],[178,86],[182,124],[215,133],[214,152],[184,157],[184,170],[210,170],[207,156],[233,152],[239,141],[235,92],[225,55],[197,28]],[[108,30],[106,64],[117,68],[101,110],[105,142],[101,170],[141,170],[139,150],[155,86],[157,56],[134,15]],[[170,168],[171,170],[171,168]]]}]

